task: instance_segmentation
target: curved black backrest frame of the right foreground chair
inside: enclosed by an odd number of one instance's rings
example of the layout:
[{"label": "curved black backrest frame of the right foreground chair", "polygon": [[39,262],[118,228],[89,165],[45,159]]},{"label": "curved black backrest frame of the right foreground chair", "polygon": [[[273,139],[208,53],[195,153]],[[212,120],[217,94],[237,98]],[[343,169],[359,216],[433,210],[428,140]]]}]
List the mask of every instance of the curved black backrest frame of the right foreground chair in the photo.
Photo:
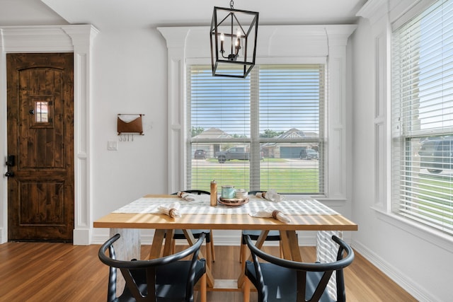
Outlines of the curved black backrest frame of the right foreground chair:
[{"label": "curved black backrest frame of the right foreground chair", "polygon": [[[251,240],[250,236],[245,236],[246,243],[248,248],[251,251],[253,259],[253,267],[255,268],[256,279],[259,284],[257,286],[258,296],[266,297],[267,292],[265,290],[266,280],[263,279],[263,274],[261,272],[260,264],[258,257],[266,262],[270,262],[274,265],[280,267],[285,267],[287,269],[292,269],[297,271],[297,301],[319,301],[324,291],[326,291],[326,286],[333,272],[336,272],[336,281],[337,281],[337,300],[336,301],[345,301],[345,283],[343,276],[343,268],[348,267],[354,260],[354,251],[343,240],[337,236],[332,236],[332,240],[338,243],[339,248],[337,252],[337,260],[335,262],[328,263],[308,263],[308,262],[296,262],[292,260],[285,260],[273,255],[269,255],[263,250],[256,248]],[[348,255],[343,257],[343,253],[346,252]],[[307,272],[322,272],[322,277],[319,279],[318,284],[315,284],[313,295],[306,300],[306,279]],[[263,301],[266,301],[267,298],[263,298]]]}]

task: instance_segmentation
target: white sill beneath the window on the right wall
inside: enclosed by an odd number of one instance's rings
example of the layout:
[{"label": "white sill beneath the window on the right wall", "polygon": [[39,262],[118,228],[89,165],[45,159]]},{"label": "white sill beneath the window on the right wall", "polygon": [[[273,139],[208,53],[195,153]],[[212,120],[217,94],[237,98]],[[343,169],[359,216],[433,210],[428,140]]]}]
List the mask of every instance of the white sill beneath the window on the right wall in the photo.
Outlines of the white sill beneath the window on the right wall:
[{"label": "white sill beneath the window on the right wall", "polygon": [[453,236],[437,231],[434,228],[423,226],[410,219],[405,219],[394,213],[386,212],[378,207],[372,207],[372,209],[376,211],[378,219],[411,233],[413,236],[432,243],[433,245],[437,245],[439,248],[447,250],[448,252],[453,250]]}]

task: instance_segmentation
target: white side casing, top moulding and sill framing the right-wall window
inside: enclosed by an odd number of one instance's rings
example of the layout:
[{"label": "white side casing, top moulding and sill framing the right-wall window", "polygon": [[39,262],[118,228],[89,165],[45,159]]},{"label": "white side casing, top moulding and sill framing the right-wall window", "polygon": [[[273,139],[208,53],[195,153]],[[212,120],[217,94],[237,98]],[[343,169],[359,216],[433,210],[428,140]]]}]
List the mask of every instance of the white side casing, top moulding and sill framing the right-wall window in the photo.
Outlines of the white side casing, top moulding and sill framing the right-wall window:
[{"label": "white side casing, top moulding and sill framing the right-wall window", "polygon": [[422,13],[437,0],[404,0],[389,7],[386,1],[369,0],[357,16],[370,21],[374,41],[374,107],[375,109],[375,165],[374,206],[377,217],[445,250],[452,250],[453,238],[443,231],[406,219],[393,213],[391,200],[391,35],[413,16]]}]

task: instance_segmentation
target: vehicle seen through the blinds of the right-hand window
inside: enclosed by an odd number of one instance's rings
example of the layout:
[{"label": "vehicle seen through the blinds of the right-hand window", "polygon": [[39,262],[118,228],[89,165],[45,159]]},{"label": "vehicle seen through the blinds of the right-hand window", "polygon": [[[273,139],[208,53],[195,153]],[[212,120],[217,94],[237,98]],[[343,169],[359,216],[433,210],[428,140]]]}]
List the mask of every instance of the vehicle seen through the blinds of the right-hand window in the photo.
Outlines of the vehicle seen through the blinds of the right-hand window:
[{"label": "vehicle seen through the blinds of the right-hand window", "polygon": [[420,168],[430,173],[441,173],[453,169],[453,137],[427,139],[420,151]]}]

